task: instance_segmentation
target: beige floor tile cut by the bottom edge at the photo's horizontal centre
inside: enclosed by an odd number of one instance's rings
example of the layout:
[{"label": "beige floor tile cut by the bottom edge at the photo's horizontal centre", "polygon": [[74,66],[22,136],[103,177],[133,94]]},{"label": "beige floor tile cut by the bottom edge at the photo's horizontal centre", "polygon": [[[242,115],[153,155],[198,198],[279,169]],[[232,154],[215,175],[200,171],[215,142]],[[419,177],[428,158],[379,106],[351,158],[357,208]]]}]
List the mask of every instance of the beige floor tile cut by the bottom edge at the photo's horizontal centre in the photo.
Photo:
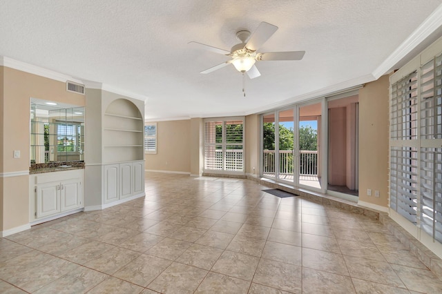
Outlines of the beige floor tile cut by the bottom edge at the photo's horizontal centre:
[{"label": "beige floor tile cut by the bottom edge at the photo's horizontal centre", "polygon": [[210,272],[206,275],[201,282],[195,294],[198,293],[247,293],[249,290],[250,282],[236,279],[235,277],[229,277],[227,275],[221,275],[220,273]]}]

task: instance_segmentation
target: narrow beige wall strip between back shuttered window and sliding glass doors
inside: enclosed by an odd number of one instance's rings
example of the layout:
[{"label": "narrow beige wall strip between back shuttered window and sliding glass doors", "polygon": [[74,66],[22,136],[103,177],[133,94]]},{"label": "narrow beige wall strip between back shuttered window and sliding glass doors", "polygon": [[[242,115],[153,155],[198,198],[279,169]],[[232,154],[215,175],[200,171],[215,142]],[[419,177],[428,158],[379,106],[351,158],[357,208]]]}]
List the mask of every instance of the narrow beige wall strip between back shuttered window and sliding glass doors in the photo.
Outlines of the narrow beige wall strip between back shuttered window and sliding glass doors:
[{"label": "narrow beige wall strip between back shuttered window and sliding glass doors", "polygon": [[[260,175],[260,115],[247,115],[245,118],[245,172],[247,175]],[[253,169],[254,168],[254,169]]]}]

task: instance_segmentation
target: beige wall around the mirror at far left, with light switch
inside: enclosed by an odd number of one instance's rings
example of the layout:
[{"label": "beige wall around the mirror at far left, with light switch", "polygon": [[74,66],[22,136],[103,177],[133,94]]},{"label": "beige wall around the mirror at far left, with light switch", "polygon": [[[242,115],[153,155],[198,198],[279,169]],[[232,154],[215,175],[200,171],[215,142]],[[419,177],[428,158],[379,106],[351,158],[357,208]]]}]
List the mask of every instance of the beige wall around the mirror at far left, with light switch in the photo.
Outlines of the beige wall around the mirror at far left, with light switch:
[{"label": "beige wall around the mirror at far left, with light switch", "polygon": [[[30,97],[84,106],[84,95],[66,92],[66,84],[39,77],[12,68],[3,69],[3,100],[1,107],[1,156],[2,173],[29,170],[29,121]],[[0,108],[1,111],[1,108]],[[11,126],[14,126],[13,128]],[[5,139],[6,138],[6,139]],[[14,150],[21,151],[20,158],[13,158]],[[1,231],[29,223],[29,176],[1,178],[0,190]]]}]

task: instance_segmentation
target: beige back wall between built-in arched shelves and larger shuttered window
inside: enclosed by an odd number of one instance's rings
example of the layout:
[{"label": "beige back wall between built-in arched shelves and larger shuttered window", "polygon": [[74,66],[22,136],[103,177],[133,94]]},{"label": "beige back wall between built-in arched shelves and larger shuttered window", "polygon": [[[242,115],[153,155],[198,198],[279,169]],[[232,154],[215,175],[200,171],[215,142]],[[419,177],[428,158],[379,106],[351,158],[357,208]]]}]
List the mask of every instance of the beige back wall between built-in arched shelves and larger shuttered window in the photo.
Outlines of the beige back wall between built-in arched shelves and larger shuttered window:
[{"label": "beige back wall between built-in arched shelves and larger shuttered window", "polygon": [[191,172],[191,120],[157,122],[157,154],[146,154],[146,170]]}]

